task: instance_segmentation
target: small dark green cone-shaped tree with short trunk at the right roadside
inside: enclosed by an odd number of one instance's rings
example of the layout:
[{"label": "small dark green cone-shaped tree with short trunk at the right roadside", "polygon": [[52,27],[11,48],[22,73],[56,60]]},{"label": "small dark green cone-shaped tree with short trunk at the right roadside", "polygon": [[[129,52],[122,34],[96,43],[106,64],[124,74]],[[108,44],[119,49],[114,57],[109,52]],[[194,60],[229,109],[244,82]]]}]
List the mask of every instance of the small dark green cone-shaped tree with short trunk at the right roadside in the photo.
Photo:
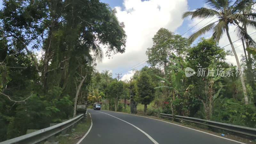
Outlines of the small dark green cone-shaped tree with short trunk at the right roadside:
[{"label": "small dark green cone-shaped tree with short trunk at the right roadside", "polygon": [[144,105],[144,115],[147,112],[147,105],[154,100],[154,83],[146,71],[140,73],[137,79],[137,93],[134,100]]}]

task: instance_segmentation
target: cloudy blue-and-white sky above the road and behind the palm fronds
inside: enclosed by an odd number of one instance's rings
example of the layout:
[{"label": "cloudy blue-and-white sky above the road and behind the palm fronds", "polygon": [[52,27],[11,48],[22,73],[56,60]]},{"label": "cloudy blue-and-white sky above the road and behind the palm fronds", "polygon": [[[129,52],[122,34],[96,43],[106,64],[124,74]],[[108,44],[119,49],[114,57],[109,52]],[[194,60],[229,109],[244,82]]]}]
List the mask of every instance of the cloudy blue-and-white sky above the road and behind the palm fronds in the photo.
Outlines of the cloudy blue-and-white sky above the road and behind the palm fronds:
[{"label": "cloudy blue-and-white sky above the road and behind the palm fronds", "polygon": [[[140,69],[147,65],[145,63],[147,60],[145,52],[148,47],[153,45],[152,37],[159,28],[167,28],[176,34],[182,35],[202,20],[191,20],[189,18],[182,20],[182,13],[200,7],[207,7],[203,0],[101,0],[101,2],[108,3],[111,7],[116,8],[118,20],[125,24],[127,43],[125,53],[116,54],[110,59],[105,58],[102,63],[97,65],[97,69],[100,72],[105,69],[110,70],[113,77],[116,77],[116,73],[122,73],[122,80],[129,79],[133,75],[132,70],[130,70],[132,67]],[[214,20],[214,17],[203,20],[183,36],[189,36],[209,21],[214,22]],[[235,27],[231,26],[229,30],[232,41],[239,39],[235,36],[234,29]],[[253,32],[255,31],[248,30],[249,34]],[[210,36],[209,33],[204,37]],[[251,36],[252,38],[256,37],[256,33]],[[220,47],[227,44],[229,44],[228,37],[223,36],[220,40]],[[241,41],[237,41],[234,46],[237,47],[241,44]],[[231,50],[231,46],[228,45],[225,49]],[[243,47],[237,47],[236,52],[238,56],[243,54]],[[228,56],[227,61],[236,64],[234,56]]]}]

